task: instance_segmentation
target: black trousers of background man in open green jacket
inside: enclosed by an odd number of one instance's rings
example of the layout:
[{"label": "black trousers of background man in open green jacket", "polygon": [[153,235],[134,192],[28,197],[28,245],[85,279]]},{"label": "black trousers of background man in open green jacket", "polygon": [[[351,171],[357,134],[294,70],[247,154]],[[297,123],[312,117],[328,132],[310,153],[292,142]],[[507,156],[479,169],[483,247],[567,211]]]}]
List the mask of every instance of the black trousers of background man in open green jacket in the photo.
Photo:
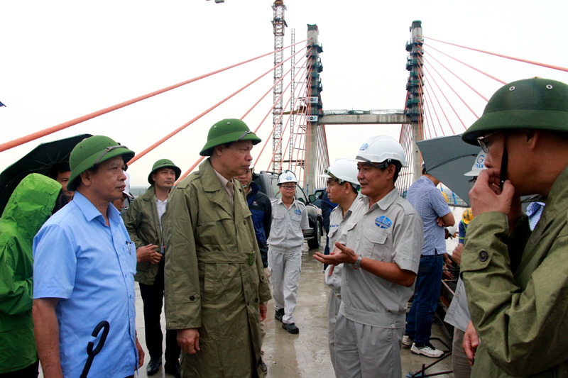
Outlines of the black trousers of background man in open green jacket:
[{"label": "black trousers of background man in open green jacket", "polygon": [[[146,348],[151,358],[162,357],[162,325],[160,315],[164,301],[164,260],[155,276],[153,285],[140,284],[140,294],[144,303],[144,328],[146,328]],[[165,331],[165,362],[174,363],[180,359],[178,331]],[[170,365],[170,364],[168,364]]]}]

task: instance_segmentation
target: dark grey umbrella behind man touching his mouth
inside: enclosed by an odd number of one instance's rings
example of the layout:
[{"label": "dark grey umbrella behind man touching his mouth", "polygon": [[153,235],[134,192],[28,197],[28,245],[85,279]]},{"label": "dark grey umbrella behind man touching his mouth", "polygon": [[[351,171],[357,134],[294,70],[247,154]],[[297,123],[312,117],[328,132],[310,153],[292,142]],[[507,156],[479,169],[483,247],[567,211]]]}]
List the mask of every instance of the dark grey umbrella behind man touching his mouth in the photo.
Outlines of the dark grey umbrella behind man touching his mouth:
[{"label": "dark grey umbrella behind man touching his mouth", "polygon": [[471,177],[464,176],[464,173],[471,170],[481,147],[465,143],[461,135],[420,140],[416,144],[422,153],[426,172],[439,179],[469,205]]}]

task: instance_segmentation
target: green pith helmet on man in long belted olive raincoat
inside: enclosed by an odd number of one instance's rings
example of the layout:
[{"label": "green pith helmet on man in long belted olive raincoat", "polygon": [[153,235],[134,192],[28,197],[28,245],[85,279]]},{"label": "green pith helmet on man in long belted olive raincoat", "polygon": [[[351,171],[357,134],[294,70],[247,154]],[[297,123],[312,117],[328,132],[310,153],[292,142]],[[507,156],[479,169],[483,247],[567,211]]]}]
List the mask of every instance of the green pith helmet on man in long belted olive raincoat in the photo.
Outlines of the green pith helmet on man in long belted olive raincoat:
[{"label": "green pith helmet on man in long belted olive raincoat", "polygon": [[253,145],[261,142],[261,138],[258,138],[255,133],[249,130],[249,126],[246,126],[246,123],[240,119],[226,118],[209,128],[207,143],[202,148],[200,155],[211,156],[216,145],[237,142],[239,140],[251,140]]}]

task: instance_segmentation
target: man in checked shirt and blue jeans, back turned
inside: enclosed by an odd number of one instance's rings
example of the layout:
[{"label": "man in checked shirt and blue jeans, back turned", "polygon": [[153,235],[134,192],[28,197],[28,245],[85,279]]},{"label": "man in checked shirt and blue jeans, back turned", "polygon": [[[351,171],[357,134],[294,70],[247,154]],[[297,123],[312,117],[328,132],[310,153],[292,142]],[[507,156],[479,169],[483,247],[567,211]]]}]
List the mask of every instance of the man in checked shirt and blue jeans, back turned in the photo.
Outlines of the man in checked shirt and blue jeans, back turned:
[{"label": "man in checked shirt and blue jeans, back turned", "polygon": [[[426,357],[444,354],[430,344],[432,317],[438,304],[442,286],[443,256],[446,253],[444,227],[454,226],[452,211],[437,189],[439,180],[427,174],[422,167],[422,177],[408,188],[406,199],[420,214],[424,225],[424,247],[416,277],[416,294],[408,313],[403,345],[410,351]],[[414,343],[412,342],[414,340]]]}]

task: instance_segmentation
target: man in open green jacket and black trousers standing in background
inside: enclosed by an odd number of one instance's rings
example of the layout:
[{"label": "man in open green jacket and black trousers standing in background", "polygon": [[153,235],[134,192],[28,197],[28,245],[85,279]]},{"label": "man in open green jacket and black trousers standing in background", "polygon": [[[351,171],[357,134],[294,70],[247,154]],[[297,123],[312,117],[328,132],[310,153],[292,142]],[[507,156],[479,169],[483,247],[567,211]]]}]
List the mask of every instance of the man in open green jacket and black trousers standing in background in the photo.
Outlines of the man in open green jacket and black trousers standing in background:
[{"label": "man in open green jacket and black trousers standing in background", "polygon": [[[181,169],[171,160],[160,159],[154,163],[146,193],[133,201],[124,215],[124,226],[136,245],[136,276],[140,283],[140,295],[144,304],[146,348],[150,362],[148,375],[158,372],[162,365],[162,326],[160,313],[164,298],[165,249],[162,238],[162,215],[168,202],[168,194],[180,177]],[[180,377],[180,346],[174,330],[165,333],[165,365],[168,374]]]}]

